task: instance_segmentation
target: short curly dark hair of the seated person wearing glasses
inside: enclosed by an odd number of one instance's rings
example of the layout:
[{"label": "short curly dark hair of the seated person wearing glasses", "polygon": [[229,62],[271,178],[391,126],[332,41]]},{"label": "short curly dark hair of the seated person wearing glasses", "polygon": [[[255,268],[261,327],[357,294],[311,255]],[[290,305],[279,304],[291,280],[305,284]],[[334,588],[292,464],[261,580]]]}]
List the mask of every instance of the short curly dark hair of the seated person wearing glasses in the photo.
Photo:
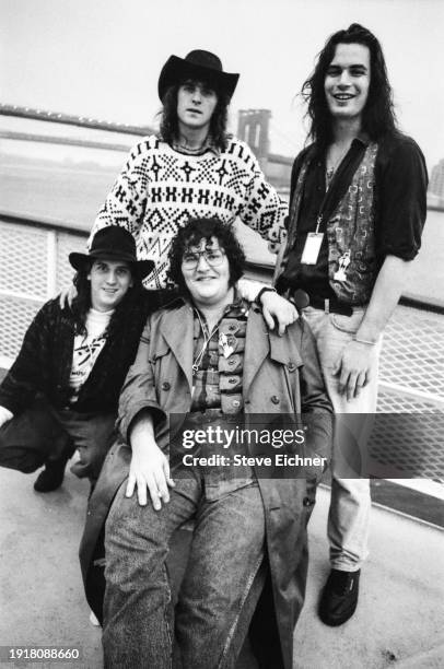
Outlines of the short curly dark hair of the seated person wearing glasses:
[{"label": "short curly dark hair of the seated person wearing glasses", "polygon": [[170,249],[168,278],[178,286],[182,294],[188,289],[182,273],[184,251],[190,246],[198,246],[200,239],[215,237],[224,249],[230,266],[230,285],[241,279],[245,270],[245,254],[230,225],[217,218],[189,219],[184,227],[179,227]]}]

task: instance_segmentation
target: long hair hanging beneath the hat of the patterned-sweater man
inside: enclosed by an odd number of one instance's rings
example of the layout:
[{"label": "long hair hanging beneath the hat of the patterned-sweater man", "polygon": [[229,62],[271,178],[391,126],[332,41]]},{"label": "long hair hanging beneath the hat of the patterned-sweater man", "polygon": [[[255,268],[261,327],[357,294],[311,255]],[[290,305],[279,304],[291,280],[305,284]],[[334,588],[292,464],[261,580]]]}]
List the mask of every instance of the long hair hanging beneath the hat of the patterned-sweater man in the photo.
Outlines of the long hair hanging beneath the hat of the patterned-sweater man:
[{"label": "long hair hanging beneath the hat of the patterned-sweater man", "polygon": [[[173,144],[178,139],[177,92],[183,83],[185,82],[170,86],[163,96],[163,109],[160,111],[160,134],[167,144]],[[215,146],[224,151],[227,140],[226,124],[230,97],[223,91],[215,90],[214,84],[211,84],[211,82],[200,81],[199,83],[212,89],[218,96],[218,104],[210,120],[210,136]]]}]

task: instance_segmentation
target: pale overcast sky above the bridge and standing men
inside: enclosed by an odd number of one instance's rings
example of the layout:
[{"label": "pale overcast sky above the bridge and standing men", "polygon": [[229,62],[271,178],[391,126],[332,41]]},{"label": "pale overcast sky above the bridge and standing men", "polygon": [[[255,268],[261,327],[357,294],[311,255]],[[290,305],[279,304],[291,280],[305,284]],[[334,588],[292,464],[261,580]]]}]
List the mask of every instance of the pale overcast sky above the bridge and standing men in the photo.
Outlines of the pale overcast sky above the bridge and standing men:
[{"label": "pale overcast sky above the bridge and standing men", "polygon": [[0,0],[0,102],[151,124],[171,54],[218,54],[239,108],[272,111],[271,150],[303,145],[295,94],[328,35],[359,22],[381,39],[401,128],[444,157],[444,0]]}]

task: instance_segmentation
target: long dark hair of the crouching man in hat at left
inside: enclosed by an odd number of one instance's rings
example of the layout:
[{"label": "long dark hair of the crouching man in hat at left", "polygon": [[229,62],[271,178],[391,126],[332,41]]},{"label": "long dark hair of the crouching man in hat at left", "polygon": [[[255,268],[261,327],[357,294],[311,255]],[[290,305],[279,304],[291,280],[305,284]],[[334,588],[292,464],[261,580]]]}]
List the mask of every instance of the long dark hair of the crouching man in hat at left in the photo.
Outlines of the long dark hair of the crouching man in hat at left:
[{"label": "long dark hair of the crouching man in hat at left", "polygon": [[[91,281],[87,274],[91,271],[93,261],[85,262],[84,267],[75,273],[73,279],[77,296],[72,301],[71,313],[74,318],[75,334],[86,334],[86,315],[91,308]],[[129,314],[141,304],[145,291],[141,280],[135,277],[133,272],[131,272],[131,277],[132,286],[128,289],[122,301],[116,306],[106,329],[107,337],[118,336],[120,331],[128,327]]]}]

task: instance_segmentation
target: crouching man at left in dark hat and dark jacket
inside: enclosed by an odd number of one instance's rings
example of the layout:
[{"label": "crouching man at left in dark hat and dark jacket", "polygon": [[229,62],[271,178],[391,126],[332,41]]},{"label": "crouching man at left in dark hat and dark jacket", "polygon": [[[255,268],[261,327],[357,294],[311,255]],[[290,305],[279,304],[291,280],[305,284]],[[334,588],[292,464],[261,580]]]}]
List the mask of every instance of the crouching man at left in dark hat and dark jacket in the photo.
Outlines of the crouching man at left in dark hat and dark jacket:
[{"label": "crouching man at left in dark hat and dark jacket", "polygon": [[37,492],[59,488],[75,449],[71,470],[97,479],[148,313],[141,280],[153,262],[137,260],[127,231],[100,231],[87,255],[69,260],[77,270],[71,307],[58,298],[42,307],[0,386],[0,466],[28,473],[44,465]]}]

